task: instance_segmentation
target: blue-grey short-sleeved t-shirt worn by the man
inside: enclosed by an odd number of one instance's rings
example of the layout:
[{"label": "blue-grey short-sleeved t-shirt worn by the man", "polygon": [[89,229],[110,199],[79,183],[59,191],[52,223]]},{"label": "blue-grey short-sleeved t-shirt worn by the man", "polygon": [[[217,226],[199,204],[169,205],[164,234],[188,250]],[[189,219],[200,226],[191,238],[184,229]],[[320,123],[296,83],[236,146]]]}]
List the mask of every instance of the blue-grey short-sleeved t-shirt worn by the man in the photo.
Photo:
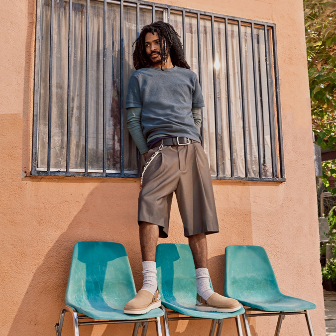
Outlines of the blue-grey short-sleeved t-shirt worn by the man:
[{"label": "blue-grey short-sleeved t-shirt worn by the man", "polygon": [[162,135],[200,141],[191,109],[203,106],[197,75],[189,69],[143,68],[129,79],[126,109],[142,108],[141,124],[147,142]]}]

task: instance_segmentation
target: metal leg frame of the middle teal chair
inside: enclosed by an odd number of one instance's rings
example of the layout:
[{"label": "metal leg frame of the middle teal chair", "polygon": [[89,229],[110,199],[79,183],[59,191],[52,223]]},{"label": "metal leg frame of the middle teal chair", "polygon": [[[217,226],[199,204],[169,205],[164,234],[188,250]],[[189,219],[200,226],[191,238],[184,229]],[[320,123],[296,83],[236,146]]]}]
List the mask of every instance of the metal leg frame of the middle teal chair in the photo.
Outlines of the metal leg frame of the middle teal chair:
[{"label": "metal leg frame of the middle teal chair", "polygon": [[[167,311],[167,309],[163,305],[161,305],[160,308],[164,312],[163,321],[164,321],[165,336],[170,336],[168,321],[210,320],[210,319],[205,319],[205,318],[188,316],[188,315],[176,312],[176,311],[171,310],[171,309],[169,311]],[[168,315],[182,315],[182,316],[180,316],[180,317],[168,317]],[[246,312],[244,312],[244,314],[241,314],[241,316],[242,316],[242,319],[243,319],[243,322],[244,322],[244,329],[245,329],[246,336],[251,336],[250,329],[249,329],[249,326],[248,326]],[[233,317],[226,318],[226,319],[234,319],[236,327],[237,327],[238,336],[243,336],[242,328],[241,328],[241,323],[240,323],[240,318],[239,317],[240,317],[240,315],[237,315],[237,316],[233,316]],[[222,333],[223,322],[226,319],[212,319],[209,336],[215,336],[216,327],[217,327],[216,336],[220,336],[221,333]]]}]

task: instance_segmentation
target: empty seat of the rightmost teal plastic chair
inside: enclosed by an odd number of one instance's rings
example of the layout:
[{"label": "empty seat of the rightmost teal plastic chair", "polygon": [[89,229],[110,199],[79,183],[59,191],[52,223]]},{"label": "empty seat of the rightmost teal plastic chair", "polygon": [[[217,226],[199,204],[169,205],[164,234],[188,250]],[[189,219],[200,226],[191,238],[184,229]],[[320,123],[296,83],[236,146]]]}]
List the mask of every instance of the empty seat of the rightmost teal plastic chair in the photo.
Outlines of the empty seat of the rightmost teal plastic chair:
[{"label": "empty seat of the rightmost teal plastic chair", "polygon": [[315,309],[316,305],[312,302],[282,295],[277,298],[265,298],[264,300],[249,299],[248,297],[234,298],[246,307],[256,308],[267,312],[291,312],[308,309]]}]

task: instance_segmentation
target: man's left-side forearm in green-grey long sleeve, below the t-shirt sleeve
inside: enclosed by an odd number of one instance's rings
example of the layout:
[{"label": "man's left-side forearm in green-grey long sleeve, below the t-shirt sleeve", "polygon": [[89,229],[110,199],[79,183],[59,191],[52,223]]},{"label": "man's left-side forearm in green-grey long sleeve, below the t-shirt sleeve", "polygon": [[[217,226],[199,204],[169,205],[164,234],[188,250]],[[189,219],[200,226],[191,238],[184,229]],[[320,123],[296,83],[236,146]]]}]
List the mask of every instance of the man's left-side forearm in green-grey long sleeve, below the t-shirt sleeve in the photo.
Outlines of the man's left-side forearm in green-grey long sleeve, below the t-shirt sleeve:
[{"label": "man's left-side forearm in green-grey long sleeve, below the t-shirt sleeve", "polygon": [[141,127],[141,111],[141,108],[127,109],[127,128],[140,154],[144,154],[146,157],[148,147]]}]

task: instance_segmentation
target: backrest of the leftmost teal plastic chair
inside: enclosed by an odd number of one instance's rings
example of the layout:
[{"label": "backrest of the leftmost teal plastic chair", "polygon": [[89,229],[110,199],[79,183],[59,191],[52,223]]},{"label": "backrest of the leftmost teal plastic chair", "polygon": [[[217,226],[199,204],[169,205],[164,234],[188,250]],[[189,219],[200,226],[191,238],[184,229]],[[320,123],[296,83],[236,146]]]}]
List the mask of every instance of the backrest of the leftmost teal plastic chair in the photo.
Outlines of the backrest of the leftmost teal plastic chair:
[{"label": "backrest of the leftmost teal plastic chair", "polygon": [[134,280],[122,244],[80,241],[73,249],[65,304],[123,309],[135,295]]}]

